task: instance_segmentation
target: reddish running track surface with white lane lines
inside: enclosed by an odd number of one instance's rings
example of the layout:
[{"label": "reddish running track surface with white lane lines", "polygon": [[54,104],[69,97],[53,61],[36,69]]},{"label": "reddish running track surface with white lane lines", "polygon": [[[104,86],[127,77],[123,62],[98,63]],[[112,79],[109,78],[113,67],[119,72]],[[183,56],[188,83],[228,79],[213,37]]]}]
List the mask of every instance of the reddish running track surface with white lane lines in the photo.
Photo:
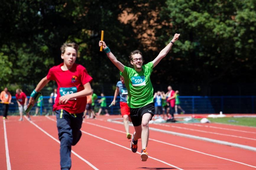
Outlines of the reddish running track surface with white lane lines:
[{"label": "reddish running track surface with white lane lines", "polygon": [[[140,160],[130,151],[124,126],[107,121],[121,118],[99,116],[85,119],[82,138],[72,147],[72,170],[251,170],[256,169],[256,152],[192,138],[151,131],[147,152]],[[9,116],[0,121],[1,170],[60,169],[59,140],[54,116],[36,116],[32,121]],[[256,147],[256,128],[224,124],[150,124],[152,128],[191,134]],[[130,133],[134,132],[132,126]],[[140,152],[140,140],[138,151]]]}]

